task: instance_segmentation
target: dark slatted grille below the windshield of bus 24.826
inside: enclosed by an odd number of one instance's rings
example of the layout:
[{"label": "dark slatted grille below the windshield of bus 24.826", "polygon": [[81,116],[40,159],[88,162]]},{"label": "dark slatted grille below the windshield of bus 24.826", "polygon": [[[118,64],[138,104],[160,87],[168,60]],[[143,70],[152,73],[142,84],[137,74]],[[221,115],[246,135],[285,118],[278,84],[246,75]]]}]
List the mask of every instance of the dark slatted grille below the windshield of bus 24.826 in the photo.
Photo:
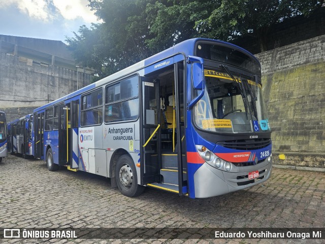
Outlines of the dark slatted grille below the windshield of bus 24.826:
[{"label": "dark slatted grille below the windshield of bus 24.826", "polygon": [[257,150],[257,149],[265,148],[270,144],[271,144],[271,138],[234,140],[234,141],[225,141],[225,142],[217,143],[217,145],[220,145],[222,147],[236,149],[236,150]]}]

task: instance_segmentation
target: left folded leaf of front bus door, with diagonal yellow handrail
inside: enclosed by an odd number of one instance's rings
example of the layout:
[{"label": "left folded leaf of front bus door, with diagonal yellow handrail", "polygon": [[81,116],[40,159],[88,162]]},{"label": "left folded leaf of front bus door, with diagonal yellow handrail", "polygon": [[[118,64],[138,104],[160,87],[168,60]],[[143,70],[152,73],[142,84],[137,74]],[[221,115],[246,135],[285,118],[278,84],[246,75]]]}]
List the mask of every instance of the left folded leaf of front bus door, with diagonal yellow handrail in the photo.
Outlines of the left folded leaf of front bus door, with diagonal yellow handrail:
[{"label": "left folded leaf of front bus door, with diagonal yellow handrail", "polygon": [[140,140],[141,185],[160,182],[160,133],[158,82],[141,77],[142,134]]}]

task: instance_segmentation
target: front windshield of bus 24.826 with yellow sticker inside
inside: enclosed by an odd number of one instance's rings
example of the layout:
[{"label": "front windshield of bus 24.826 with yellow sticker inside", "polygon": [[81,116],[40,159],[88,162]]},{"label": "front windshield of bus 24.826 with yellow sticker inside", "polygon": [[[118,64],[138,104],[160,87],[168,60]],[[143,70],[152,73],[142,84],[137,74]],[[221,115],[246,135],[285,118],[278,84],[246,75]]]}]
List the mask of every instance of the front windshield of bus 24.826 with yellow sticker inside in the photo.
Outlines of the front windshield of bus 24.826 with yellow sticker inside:
[{"label": "front windshield of bus 24.826 with yellow sticker inside", "polygon": [[194,106],[203,130],[222,133],[269,131],[261,84],[252,78],[205,69],[205,93]]}]

